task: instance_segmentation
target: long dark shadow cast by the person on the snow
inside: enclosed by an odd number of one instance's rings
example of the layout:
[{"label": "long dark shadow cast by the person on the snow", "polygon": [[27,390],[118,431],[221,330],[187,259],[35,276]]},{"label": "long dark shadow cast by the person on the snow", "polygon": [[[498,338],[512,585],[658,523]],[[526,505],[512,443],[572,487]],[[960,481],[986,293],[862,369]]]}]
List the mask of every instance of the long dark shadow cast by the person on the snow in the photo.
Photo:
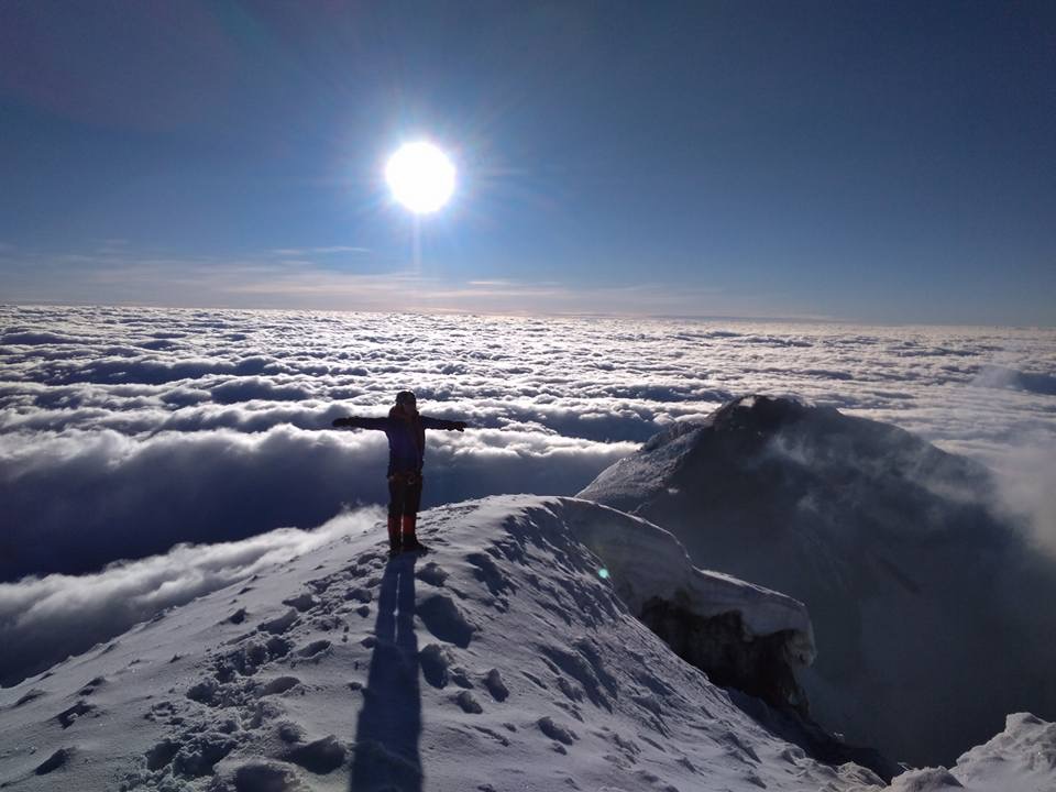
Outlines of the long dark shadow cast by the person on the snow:
[{"label": "long dark shadow cast by the person on the snow", "polygon": [[377,600],[377,644],[355,727],[355,757],[349,789],[421,792],[421,695],[415,636],[415,562],[405,553],[391,561]]}]

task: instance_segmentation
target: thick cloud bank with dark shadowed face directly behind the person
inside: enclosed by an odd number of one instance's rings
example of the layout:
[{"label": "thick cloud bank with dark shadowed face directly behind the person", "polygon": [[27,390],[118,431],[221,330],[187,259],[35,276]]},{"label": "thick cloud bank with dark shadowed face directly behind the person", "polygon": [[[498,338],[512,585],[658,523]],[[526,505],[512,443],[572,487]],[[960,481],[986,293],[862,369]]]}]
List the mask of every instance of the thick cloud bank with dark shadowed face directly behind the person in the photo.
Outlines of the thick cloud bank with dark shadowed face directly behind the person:
[{"label": "thick cloud bank with dark shadowed face directly behind the person", "polygon": [[[424,505],[496,492],[583,486],[630,453],[542,431],[433,435]],[[383,503],[381,432],[112,429],[0,436],[0,495],[14,517],[0,572],[88,572],[180,541],[241,539],[280,526],[311,527],[345,504]]]}]

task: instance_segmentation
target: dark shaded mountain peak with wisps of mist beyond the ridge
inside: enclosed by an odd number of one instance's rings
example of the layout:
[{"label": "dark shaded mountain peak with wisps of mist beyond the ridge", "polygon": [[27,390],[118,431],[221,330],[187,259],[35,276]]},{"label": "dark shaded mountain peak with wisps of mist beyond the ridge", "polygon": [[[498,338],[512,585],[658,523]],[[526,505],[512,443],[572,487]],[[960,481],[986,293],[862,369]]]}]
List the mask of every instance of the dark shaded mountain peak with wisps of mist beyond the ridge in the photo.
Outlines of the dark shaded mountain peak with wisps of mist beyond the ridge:
[{"label": "dark shaded mountain peak with wisps of mist beyond the ridge", "polygon": [[1056,713],[1056,617],[1030,605],[1056,597],[1056,569],[991,492],[985,469],[897,427],[751,396],[661,432],[580,497],[804,602],[816,718],[923,765],[1007,713]]}]

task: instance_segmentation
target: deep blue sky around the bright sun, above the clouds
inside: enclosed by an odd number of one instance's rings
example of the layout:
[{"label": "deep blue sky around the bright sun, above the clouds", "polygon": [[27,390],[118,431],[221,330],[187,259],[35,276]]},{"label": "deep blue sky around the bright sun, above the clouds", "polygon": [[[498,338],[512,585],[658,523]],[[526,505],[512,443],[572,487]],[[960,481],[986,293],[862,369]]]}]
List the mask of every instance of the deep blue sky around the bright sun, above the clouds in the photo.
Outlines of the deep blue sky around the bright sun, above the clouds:
[{"label": "deep blue sky around the bright sun, above the clouds", "polygon": [[1054,85],[1045,2],[15,0],[0,299],[1050,326]]}]

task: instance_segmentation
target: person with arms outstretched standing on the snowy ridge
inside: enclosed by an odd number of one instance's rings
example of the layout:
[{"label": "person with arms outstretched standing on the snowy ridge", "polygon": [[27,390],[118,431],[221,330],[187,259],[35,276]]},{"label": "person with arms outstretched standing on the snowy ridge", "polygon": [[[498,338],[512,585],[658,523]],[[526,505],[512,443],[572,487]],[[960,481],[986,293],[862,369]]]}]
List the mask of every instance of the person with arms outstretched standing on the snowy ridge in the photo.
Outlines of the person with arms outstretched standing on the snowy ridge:
[{"label": "person with arms outstretched standing on the snowy ridge", "polygon": [[427,552],[428,548],[415,535],[421,503],[426,429],[462,431],[469,425],[420,415],[415,395],[410,391],[400,391],[396,394],[396,404],[389,409],[388,418],[350,416],[338,418],[333,426],[385,432],[388,438],[388,554],[392,558],[404,550]]}]

